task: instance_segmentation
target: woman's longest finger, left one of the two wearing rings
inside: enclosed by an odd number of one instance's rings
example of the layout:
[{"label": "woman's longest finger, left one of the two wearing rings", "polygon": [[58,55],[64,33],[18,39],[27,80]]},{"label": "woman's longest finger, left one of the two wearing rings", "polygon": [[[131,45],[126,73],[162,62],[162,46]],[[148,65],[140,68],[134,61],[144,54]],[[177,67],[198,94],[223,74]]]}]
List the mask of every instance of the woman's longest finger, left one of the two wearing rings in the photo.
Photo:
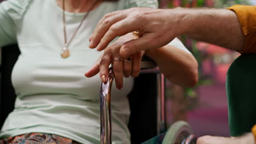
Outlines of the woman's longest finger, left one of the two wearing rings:
[{"label": "woman's longest finger, left one of the two wearing rings", "polygon": [[115,75],[115,86],[118,89],[123,88],[123,59],[114,57],[113,70]]}]

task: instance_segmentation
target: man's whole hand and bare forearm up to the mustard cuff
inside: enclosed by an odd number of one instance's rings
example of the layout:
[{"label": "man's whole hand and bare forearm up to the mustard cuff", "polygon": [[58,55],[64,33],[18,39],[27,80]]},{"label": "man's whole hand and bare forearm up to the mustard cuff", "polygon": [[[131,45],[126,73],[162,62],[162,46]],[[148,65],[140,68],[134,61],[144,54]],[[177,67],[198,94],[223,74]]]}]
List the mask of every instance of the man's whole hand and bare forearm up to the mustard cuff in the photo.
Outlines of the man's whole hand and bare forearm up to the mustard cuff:
[{"label": "man's whole hand and bare forearm up to the mustard cuff", "polygon": [[101,51],[115,37],[132,31],[139,31],[140,38],[124,43],[120,56],[162,47],[181,34],[233,50],[241,50],[244,44],[240,23],[231,10],[131,8],[106,14],[89,46]]}]

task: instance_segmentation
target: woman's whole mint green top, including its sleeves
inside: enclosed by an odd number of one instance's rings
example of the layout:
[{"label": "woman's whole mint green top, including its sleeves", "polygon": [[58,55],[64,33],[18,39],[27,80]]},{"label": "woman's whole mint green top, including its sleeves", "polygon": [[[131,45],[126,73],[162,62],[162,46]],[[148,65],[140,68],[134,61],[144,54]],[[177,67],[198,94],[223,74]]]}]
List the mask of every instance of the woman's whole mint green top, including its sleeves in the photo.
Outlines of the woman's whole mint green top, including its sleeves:
[{"label": "woman's whole mint green top, including its sleeves", "polygon": [[[21,51],[11,76],[17,95],[15,109],[0,137],[39,132],[57,134],[80,143],[100,143],[99,76],[84,76],[102,52],[88,48],[89,36],[104,14],[130,7],[158,7],[156,0],[103,2],[92,10],[61,58],[64,46],[62,9],[55,0],[9,0],[0,4],[0,47],[18,43]],[[69,40],[85,13],[66,11]],[[176,43],[177,42],[177,43]],[[176,39],[173,45],[184,46]],[[113,143],[130,143],[130,109],[124,88],[112,90]]]}]

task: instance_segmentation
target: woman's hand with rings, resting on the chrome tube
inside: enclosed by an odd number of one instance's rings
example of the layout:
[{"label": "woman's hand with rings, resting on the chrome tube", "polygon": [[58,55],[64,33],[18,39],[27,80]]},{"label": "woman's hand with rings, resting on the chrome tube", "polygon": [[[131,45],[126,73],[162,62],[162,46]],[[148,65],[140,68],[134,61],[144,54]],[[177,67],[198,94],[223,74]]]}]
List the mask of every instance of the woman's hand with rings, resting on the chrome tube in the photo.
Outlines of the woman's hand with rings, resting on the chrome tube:
[{"label": "woman's hand with rings, resting on the chrome tube", "polygon": [[120,47],[127,41],[137,38],[137,34],[128,33],[120,37],[113,44],[106,47],[103,55],[96,61],[94,66],[92,66],[92,68],[88,70],[87,73],[85,73],[85,76],[92,77],[100,72],[101,81],[107,82],[109,77],[109,65],[113,64],[115,85],[118,89],[121,89],[123,87],[123,76],[138,76],[141,66],[141,58],[144,55],[144,51],[138,52],[135,55],[129,57],[120,57]]}]

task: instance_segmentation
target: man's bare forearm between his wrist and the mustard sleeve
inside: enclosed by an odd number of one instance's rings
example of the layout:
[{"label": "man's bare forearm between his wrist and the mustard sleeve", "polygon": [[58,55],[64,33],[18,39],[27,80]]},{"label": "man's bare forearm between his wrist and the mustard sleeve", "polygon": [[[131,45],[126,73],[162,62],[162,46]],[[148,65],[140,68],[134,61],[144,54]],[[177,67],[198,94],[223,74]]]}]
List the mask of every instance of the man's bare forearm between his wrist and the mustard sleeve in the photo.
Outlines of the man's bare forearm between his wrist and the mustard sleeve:
[{"label": "man's bare forearm between his wrist and the mustard sleeve", "polygon": [[[175,9],[174,9],[175,10]],[[177,9],[181,34],[232,50],[241,50],[244,36],[236,14],[226,9]]]}]

